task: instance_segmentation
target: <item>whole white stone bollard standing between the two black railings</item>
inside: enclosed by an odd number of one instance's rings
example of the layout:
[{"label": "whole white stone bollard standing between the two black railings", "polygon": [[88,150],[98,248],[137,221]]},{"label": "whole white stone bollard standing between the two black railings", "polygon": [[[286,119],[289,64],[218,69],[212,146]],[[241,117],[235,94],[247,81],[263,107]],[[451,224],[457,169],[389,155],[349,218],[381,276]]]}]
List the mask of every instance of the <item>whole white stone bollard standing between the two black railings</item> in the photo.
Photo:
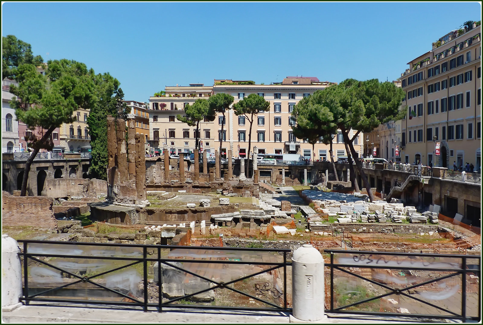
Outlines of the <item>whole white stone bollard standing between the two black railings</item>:
[{"label": "whole white stone bollard standing between the two black railings", "polygon": [[324,314],[324,258],[310,244],[303,244],[292,257],[291,322],[317,322]]}]

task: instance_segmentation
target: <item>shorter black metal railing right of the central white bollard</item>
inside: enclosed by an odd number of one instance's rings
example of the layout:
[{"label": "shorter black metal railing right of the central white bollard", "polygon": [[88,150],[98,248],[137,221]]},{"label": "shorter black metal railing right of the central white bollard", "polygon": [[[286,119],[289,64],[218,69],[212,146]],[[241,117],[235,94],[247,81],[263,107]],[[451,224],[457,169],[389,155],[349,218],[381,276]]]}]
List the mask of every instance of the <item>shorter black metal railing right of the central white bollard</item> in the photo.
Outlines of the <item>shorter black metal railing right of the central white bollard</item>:
[{"label": "shorter black metal railing right of the central white bollard", "polygon": [[481,318],[480,256],[324,252],[329,254],[325,264],[327,312],[420,321]]}]

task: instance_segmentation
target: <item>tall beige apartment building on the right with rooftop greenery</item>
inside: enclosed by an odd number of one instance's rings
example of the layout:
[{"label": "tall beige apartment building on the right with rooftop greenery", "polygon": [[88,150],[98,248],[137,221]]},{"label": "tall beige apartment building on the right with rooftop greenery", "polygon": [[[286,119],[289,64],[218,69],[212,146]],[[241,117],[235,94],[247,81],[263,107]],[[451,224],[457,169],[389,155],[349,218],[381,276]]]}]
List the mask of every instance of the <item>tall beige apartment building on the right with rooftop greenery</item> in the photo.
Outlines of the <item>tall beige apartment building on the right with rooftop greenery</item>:
[{"label": "tall beige apartment building on the right with rooftop greenery", "polygon": [[403,162],[449,168],[468,162],[480,169],[481,26],[473,27],[446,34],[401,74],[408,105],[400,126]]}]

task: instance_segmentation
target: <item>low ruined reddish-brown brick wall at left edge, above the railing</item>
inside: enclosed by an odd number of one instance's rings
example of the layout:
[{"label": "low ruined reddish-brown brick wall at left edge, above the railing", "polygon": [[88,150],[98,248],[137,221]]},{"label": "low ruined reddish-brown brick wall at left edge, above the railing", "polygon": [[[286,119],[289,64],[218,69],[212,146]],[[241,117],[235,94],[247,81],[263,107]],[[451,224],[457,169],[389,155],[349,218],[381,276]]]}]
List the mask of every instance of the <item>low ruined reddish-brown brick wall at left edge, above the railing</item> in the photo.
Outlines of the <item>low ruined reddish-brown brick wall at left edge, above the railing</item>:
[{"label": "low ruined reddish-brown brick wall at left edge, above the railing", "polygon": [[43,196],[13,196],[2,192],[2,225],[57,229],[52,199]]}]

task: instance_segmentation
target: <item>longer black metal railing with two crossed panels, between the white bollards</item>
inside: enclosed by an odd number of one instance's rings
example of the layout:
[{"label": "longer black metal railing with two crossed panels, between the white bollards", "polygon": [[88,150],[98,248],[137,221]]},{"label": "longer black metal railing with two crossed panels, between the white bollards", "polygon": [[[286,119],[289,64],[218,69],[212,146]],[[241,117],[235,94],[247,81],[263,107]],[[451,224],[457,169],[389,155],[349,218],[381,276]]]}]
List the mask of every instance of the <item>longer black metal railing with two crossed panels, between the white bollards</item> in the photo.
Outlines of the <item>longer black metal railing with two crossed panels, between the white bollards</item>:
[{"label": "longer black metal railing with two crossed panels, between the white bollards", "polygon": [[25,304],[130,306],[159,312],[167,307],[291,310],[290,249],[18,243],[23,244],[20,300]]}]

